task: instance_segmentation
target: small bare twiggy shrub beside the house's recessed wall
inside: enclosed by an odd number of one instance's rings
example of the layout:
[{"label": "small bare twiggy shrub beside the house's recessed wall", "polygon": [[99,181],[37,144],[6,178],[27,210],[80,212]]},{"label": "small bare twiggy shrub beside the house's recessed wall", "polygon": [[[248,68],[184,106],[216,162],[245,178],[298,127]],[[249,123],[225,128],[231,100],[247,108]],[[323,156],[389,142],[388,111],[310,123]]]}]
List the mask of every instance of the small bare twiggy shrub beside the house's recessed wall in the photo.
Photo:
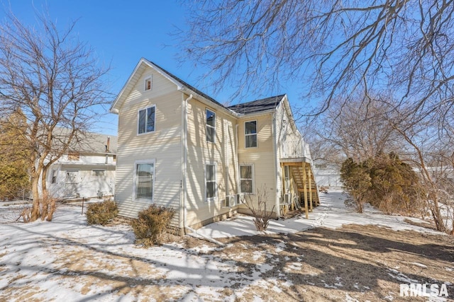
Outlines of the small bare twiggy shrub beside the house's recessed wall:
[{"label": "small bare twiggy shrub beside the house's recessed wall", "polygon": [[257,190],[257,204],[253,202],[250,195],[247,195],[245,205],[248,207],[254,217],[255,229],[259,232],[266,231],[268,223],[272,217],[275,206],[271,211],[267,211],[268,191],[266,187]]}]

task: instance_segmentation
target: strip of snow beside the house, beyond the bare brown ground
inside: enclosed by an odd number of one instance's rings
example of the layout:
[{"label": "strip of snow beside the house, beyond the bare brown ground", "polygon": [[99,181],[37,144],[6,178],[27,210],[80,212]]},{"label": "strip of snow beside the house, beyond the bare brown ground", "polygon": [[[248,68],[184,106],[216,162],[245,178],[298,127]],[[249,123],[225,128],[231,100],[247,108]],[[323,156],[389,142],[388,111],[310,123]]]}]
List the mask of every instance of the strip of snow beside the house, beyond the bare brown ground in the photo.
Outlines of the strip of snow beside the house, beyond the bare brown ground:
[{"label": "strip of snow beside the house, beyond the bare brown ground", "polygon": [[[345,207],[346,197],[347,195],[341,190],[331,190],[328,194],[321,193],[321,204],[314,208],[314,212],[309,212],[309,219],[306,219],[304,214],[300,214],[293,219],[270,220],[267,233],[296,233],[320,226],[336,229],[345,224],[376,225],[392,228],[395,231],[414,230],[438,233],[428,228],[413,226],[404,222],[404,219],[410,219],[409,217],[384,215],[370,206],[365,207],[364,213],[356,213],[354,209]],[[416,218],[411,218],[411,220],[419,223],[427,222]],[[238,215],[233,219],[211,223],[199,228],[196,233],[211,238],[226,238],[254,236],[258,234],[258,231],[255,231],[253,217]]]}]

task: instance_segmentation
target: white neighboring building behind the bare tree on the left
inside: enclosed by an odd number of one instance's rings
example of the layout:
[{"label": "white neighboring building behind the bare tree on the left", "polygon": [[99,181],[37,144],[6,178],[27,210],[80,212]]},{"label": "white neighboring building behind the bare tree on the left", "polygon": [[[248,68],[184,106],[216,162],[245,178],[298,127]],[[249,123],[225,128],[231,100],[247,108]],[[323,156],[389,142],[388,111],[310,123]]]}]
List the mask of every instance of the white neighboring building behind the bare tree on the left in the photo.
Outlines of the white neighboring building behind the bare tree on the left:
[{"label": "white neighboring building behind the bare tree on the left", "polygon": [[89,133],[83,144],[48,170],[47,187],[59,199],[113,197],[117,138]]}]

